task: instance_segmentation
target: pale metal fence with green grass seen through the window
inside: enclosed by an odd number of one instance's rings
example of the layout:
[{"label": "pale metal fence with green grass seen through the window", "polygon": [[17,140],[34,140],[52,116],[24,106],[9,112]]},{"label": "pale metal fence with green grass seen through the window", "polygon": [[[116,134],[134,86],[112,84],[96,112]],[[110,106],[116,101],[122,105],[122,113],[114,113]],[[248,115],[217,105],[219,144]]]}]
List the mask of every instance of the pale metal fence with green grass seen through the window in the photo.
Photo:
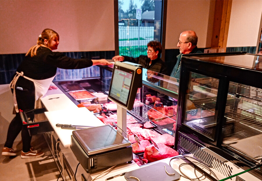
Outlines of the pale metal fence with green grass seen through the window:
[{"label": "pale metal fence with green grass seen through the window", "polygon": [[147,43],[154,40],[154,27],[118,26],[119,55],[146,55]]}]

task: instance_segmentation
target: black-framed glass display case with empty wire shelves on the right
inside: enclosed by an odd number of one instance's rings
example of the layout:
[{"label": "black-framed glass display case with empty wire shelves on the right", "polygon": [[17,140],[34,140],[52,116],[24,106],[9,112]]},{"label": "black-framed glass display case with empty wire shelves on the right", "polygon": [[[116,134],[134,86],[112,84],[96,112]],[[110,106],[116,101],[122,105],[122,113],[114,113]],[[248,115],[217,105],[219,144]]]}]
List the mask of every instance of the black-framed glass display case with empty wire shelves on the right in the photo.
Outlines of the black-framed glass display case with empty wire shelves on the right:
[{"label": "black-framed glass display case with empty wire shelves on the right", "polygon": [[[219,180],[262,179],[262,56],[182,56],[175,149],[192,154]],[[232,179],[231,179],[232,180]]]}]

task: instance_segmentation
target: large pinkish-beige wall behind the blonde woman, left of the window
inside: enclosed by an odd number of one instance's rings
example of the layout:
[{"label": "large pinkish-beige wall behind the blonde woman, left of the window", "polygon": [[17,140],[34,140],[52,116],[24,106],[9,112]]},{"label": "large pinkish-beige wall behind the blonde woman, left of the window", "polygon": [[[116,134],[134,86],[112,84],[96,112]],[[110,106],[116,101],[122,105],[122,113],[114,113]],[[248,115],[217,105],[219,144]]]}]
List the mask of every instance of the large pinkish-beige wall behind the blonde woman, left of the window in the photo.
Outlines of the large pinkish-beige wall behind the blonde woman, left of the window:
[{"label": "large pinkish-beige wall behind the blonde woman, left of the window", "polygon": [[0,54],[26,53],[45,28],[60,36],[57,51],[114,50],[113,0],[0,1]]}]

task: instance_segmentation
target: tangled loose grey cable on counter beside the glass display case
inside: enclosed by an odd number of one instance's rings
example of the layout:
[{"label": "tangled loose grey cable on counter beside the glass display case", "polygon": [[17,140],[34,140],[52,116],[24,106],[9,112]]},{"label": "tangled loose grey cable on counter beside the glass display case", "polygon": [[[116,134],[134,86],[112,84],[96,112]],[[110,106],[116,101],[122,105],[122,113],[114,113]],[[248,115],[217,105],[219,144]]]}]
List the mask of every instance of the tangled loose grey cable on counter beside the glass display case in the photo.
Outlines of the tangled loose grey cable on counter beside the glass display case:
[{"label": "tangled loose grey cable on counter beside the glass display case", "polygon": [[[195,164],[196,164],[196,165],[198,164],[199,166],[205,167],[207,170],[210,171],[210,174],[212,173],[212,174],[217,178],[217,176],[215,175],[215,173],[209,168],[208,165],[206,165],[206,164],[204,164],[204,163],[199,163],[199,161],[198,161],[197,159],[193,158],[193,157],[189,157],[189,156],[185,156],[185,155],[183,155],[183,156],[177,156],[177,157],[174,157],[174,158],[172,158],[172,159],[169,160],[169,165],[171,166],[171,161],[172,161],[173,159],[180,158],[180,159],[186,159],[186,160],[188,160],[186,157],[191,158],[191,159],[193,159],[193,160],[196,160],[197,162],[192,162],[192,161],[191,161],[192,163],[182,163],[182,164],[180,164],[180,165],[178,166],[178,169],[179,169],[180,173],[182,174],[181,177],[187,178],[187,179],[189,179],[189,180],[191,180],[191,181],[195,181],[195,180],[199,180],[199,181],[200,181],[200,178],[202,178],[203,176],[205,176],[205,173],[203,173],[200,177],[197,176]],[[194,174],[196,175],[196,178],[190,178],[190,177],[188,177],[185,173],[183,173],[183,172],[181,171],[181,169],[180,169],[180,167],[183,166],[183,165],[193,165],[193,167],[194,167]],[[205,178],[206,178],[206,176],[205,176]],[[219,180],[219,179],[217,178],[217,180]]]}]

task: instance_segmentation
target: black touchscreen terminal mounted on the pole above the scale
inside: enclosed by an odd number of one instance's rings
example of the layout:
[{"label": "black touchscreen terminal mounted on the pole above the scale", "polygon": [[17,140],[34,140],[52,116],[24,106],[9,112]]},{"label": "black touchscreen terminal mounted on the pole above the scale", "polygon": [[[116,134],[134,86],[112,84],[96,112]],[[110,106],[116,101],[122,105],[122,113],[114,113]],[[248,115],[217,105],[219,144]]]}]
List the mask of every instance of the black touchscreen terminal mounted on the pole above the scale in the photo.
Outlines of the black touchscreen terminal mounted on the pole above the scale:
[{"label": "black touchscreen terminal mounted on the pole above the scale", "polygon": [[108,97],[121,107],[132,110],[139,83],[142,80],[142,69],[128,62],[116,62],[112,73]]}]

